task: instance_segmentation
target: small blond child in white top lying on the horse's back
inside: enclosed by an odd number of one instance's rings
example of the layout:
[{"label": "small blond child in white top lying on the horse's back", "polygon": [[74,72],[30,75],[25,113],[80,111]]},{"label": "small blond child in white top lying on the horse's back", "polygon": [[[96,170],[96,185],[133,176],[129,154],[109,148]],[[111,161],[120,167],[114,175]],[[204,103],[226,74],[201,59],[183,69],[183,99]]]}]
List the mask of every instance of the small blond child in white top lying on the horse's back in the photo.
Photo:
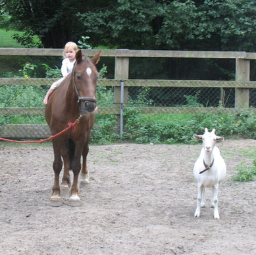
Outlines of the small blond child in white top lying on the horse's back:
[{"label": "small blond child in white top lying on the horse's back", "polygon": [[78,51],[78,45],[76,43],[73,43],[72,41],[69,41],[66,43],[63,51],[63,62],[61,65],[61,74],[63,75],[63,78],[53,82],[51,87],[49,88],[49,91],[45,95],[45,98],[43,99],[43,103],[47,104],[49,96],[61,83],[63,80],[72,72],[72,69],[74,67],[74,62],[76,62],[76,51]]}]

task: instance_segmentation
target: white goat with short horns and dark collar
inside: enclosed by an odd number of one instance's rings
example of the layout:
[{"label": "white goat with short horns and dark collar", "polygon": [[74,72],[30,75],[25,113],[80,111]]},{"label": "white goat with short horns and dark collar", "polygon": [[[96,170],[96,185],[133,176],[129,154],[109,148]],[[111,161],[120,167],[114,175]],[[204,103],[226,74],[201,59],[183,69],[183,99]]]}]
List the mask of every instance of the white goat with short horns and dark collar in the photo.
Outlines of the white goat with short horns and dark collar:
[{"label": "white goat with short horns and dark collar", "polygon": [[205,206],[205,187],[211,187],[211,203],[215,208],[214,218],[219,219],[218,184],[226,175],[226,164],[220,155],[220,150],[215,146],[215,143],[216,141],[223,141],[224,137],[215,135],[215,129],[210,133],[207,128],[205,128],[203,135],[194,135],[193,137],[203,141],[200,156],[193,166],[193,175],[197,180],[198,191],[195,217],[200,216],[201,207]]}]

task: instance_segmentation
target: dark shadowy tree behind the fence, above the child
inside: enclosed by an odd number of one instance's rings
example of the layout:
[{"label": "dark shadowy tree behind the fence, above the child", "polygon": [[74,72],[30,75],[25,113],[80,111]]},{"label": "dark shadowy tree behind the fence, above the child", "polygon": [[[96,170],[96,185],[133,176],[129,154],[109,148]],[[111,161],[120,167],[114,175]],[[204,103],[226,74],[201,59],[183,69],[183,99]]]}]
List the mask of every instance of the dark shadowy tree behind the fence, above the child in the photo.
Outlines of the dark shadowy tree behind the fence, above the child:
[{"label": "dark shadowy tree behind the fence, above the child", "polygon": [[11,15],[12,26],[24,32],[16,35],[18,41],[30,46],[32,36],[38,35],[43,47],[62,48],[78,39],[76,13],[86,6],[78,0],[3,0],[1,7]]}]

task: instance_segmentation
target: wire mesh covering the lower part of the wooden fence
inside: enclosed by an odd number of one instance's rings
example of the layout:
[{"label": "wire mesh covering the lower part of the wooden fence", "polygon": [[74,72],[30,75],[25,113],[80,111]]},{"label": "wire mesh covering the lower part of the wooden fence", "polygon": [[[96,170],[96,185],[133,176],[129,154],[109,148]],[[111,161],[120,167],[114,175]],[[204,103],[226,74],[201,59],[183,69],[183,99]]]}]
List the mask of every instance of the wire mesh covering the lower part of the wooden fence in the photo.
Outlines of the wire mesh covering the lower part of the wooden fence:
[{"label": "wire mesh covering the lower part of the wooden fence", "polygon": [[[49,137],[43,98],[55,80],[0,79],[0,137]],[[255,81],[240,85],[236,87],[236,81],[124,80],[124,104],[147,114],[234,113],[241,105],[255,110]],[[119,115],[120,96],[120,80],[99,80],[98,116]]]}]

